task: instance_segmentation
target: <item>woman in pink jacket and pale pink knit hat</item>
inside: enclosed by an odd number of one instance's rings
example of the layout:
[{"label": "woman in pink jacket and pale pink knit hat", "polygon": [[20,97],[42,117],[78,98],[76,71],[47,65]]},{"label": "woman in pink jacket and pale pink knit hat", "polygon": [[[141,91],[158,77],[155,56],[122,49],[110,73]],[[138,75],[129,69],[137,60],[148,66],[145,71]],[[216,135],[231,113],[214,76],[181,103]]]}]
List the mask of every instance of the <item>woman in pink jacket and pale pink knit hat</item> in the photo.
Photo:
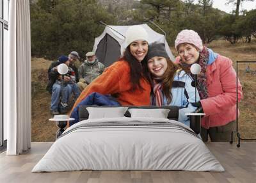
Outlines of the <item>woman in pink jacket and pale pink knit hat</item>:
[{"label": "woman in pink jacket and pale pink knit hat", "polygon": [[[229,141],[236,125],[236,71],[232,60],[202,45],[198,33],[183,30],[177,35],[175,49],[180,63],[187,72],[193,63],[198,63],[202,71],[198,75],[196,86],[200,102],[193,103],[204,112],[201,136],[204,141]],[[194,77],[191,74],[192,77]],[[238,83],[238,99],[243,97],[242,87]]]}]

